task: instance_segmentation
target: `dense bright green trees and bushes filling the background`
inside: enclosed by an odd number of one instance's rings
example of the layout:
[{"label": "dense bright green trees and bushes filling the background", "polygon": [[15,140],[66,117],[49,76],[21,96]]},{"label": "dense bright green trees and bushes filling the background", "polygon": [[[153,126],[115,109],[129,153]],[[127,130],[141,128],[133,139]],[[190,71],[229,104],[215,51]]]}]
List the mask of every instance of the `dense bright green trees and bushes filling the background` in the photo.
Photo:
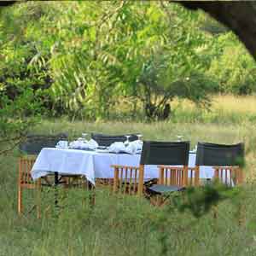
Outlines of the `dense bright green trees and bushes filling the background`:
[{"label": "dense bright green trees and bushes filling the background", "polygon": [[[20,3],[2,9],[0,26],[4,106],[30,95],[48,116],[125,108],[130,119],[166,119],[175,97],[209,107],[209,94],[256,90],[254,61],[232,32],[177,4]],[[34,115],[29,107],[22,114]]]}]

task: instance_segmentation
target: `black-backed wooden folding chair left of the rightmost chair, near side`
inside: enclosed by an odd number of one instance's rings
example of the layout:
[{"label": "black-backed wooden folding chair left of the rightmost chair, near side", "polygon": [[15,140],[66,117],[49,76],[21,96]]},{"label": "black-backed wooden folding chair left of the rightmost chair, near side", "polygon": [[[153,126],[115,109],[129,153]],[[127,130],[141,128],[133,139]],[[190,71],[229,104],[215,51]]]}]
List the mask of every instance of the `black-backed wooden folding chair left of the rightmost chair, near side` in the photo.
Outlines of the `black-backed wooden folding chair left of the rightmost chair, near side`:
[{"label": "black-backed wooden folding chair left of the rightmost chair, near side", "polygon": [[[143,195],[162,195],[166,192],[183,190],[186,183],[189,162],[189,143],[164,143],[164,142],[143,142],[143,151],[140,166],[113,166],[114,181],[113,191],[123,191],[125,193]],[[159,166],[159,184],[145,186],[144,166],[145,165],[165,165]],[[167,166],[168,165],[168,166]],[[170,166],[173,165],[173,166]],[[175,165],[175,166],[174,166]],[[181,165],[177,167],[176,165]],[[162,171],[164,175],[162,175]],[[172,175],[167,175],[171,171]],[[173,171],[173,172],[172,172]],[[175,171],[176,180],[173,179]],[[166,183],[164,183],[166,182]],[[172,183],[174,182],[174,183]],[[133,185],[131,185],[133,184]],[[124,189],[122,189],[124,188]]]}]

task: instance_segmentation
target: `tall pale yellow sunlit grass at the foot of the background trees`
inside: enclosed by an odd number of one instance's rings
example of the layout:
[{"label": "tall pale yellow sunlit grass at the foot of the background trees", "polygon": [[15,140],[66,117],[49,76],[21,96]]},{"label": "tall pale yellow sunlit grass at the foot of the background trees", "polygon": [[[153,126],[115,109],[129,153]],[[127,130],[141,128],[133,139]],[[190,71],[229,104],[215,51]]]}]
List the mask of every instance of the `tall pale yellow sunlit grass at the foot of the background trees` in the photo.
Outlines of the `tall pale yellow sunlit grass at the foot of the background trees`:
[{"label": "tall pale yellow sunlit grass at the foot of the background trees", "polygon": [[[172,113],[168,121],[172,123],[209,123],[209,124],[240,124],[256,122],[256,96],[211,96],[210,108],[198,108],[188,100],[175,99],[171,102]],[[109,119],[134,120],[131,104],[125,102],[114,106]],[[135,120],[144,120],[143,108],[137,104]]]}]

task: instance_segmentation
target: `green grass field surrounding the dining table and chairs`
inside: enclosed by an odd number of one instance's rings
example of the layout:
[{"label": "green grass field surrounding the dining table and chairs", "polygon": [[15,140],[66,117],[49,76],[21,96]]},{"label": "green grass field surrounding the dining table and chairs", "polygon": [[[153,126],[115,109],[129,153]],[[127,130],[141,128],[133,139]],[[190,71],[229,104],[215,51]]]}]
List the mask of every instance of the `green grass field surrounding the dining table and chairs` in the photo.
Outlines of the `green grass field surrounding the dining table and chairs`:
[{"label": "green grass field surrounding the dining table and chairs", "polygon": [[[81,132],[140,132],[144,139],[176,140],[183,135],[194,148],[198,141],[246,143],[247,183],[232,200],[220,201],[218,218],[212,210],[201,218],[175,208],[152,207],[148,201],[132,197],[119,199],[106,190],[96,191],[96,206],[86,202],[88,192],[71,190],[63,199],[61,212],[38,220],[34,213],[19,217],[17,200],[17,153],[1,156],[0,167],[0,255],[256,255],[256,134],[253,118],[256,98],[216,98],[213,113],[218,122],[182,119],[176,122],[69,122],[67,119],[44,120],[32,131],[67,132],[77,137]],[[255,102],[254,102],[255,101]],[[183,105],[192,113],[196,110]],[[185,108],[185,106],[187,106]],[[231,107],[230,107],[231,106]],[[181,109],[181,108],[180,108]],[[181,111],[181,110],[180,110]],[[218,112],[219,111],[219,112]],[[182,113],[182,112],[181,112]],[[189,116],[189,113],[187,113]],[[194,113],[195,114],[195,113]],[[225,117],[238,118],[227,121]],[[196,116],[196,114],[195,114]],[[53,203],[53,192],[44,193],[44,204]],[[85,203],[82,203],[84,201]],[[239,225],[238,209],[243,209]],[[58,216],[58,217],[56,217]]]}]

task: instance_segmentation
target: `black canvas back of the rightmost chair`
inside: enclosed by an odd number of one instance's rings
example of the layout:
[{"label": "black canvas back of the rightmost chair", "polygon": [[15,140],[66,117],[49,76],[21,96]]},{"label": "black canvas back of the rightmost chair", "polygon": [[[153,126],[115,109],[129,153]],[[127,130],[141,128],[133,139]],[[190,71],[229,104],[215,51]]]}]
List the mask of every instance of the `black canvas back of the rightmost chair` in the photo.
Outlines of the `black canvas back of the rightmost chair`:
[{"label": "black canvas back of the rightmost chair", "polygon": [[244,144],[198,143],[196,166],[243,166]]}]

